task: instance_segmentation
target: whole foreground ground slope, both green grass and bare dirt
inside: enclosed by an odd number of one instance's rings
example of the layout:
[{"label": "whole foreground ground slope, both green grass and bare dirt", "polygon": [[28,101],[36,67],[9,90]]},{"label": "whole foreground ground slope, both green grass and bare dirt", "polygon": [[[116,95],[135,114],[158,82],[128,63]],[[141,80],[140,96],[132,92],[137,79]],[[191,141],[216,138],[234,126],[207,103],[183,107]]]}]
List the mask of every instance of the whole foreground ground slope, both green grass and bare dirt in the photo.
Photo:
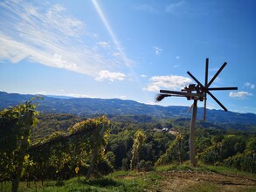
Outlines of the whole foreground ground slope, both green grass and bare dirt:
[{"label": "whole foreground ground slope, both green grass and bare dirt", "polygon": [[[56,186],[56,182],[31,182],[20,184],[19,191],[256,191],[256,175],[239,172],[231,168],[187,165],[170,165],[155,171],[135,173],[117,171],[93,181],[73,178]],[[10,191],[10,183],[3,186]]]}]

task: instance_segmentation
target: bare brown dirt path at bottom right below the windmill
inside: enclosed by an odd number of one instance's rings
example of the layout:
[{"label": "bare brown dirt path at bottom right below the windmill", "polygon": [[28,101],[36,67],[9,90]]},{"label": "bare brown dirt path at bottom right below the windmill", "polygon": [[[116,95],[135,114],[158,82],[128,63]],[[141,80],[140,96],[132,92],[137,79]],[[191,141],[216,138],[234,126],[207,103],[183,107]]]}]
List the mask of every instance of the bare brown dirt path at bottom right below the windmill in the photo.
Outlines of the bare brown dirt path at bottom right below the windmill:
[{"label": "bare brown dirt path at bottom right below the windmill", "polygon": [[160,173],[156,191],[256,191],[256,180],[241,175],[222,175],[204,171],[167,171]]}]

